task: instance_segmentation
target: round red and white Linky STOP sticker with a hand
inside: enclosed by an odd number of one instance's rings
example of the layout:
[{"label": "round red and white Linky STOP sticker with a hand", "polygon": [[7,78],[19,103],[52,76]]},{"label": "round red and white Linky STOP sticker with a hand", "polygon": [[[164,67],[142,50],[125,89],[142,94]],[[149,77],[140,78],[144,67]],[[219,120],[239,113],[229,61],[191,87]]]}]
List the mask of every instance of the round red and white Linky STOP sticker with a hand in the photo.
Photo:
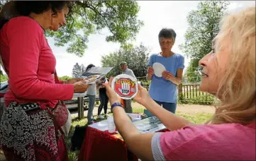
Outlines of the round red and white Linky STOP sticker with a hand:
[{"label": "round red and white Linky STOP sticker with a hand", "polygon": [[130,100],[138,93],[136,79],[126,74],[121,74],[113,78],[111,88],[124,100]]}]

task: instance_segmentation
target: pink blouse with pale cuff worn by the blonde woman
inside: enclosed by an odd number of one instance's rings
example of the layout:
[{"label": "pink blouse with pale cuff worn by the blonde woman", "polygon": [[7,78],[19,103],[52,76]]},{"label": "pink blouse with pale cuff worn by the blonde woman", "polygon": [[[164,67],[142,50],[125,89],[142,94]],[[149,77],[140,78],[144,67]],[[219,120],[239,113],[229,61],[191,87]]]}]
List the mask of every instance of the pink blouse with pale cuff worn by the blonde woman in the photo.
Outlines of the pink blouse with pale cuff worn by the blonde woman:
[{"label": "pink blouse with pale cuff worn by the blonde woman", "polygon": [[255,160],[255,121],[155,133],[152,153],[155,160]]}]

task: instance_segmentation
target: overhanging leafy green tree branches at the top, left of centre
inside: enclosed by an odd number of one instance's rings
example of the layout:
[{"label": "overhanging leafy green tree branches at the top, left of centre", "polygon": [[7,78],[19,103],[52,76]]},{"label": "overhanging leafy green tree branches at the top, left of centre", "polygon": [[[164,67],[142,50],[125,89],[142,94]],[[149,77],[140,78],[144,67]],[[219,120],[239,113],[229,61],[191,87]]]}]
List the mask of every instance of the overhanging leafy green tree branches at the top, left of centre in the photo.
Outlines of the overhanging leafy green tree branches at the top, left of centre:
[{"label": "overhanging leafy green tree branches at the top, left of centre", "polygon": [[[5,3],[0,1],[0,8]],[[48,30],[45,35],[54,37],[56,46],[67,44],[67,52],[77,56],[82,56],[87,49],[89,35],[105,28],[110,31],[107,42],[119,42],[126,47],[143,26],[143,22],[137,19],[139,10],[138,2],[134,0],[74,1],[67,25],[58,32]]]}]

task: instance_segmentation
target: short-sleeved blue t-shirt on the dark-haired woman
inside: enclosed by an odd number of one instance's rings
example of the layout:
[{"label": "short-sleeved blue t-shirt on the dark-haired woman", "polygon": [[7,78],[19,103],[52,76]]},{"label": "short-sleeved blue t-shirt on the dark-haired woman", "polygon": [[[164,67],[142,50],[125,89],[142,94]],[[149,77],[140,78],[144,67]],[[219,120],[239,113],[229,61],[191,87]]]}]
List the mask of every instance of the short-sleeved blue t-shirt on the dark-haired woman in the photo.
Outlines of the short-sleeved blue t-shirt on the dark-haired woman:
[{"label": "short-sleeved blue t-shirt on the dark-haired woman", "polygon": [[[161,54],[152,54],[148,66],[152,67],[155,62],[164,65],[166,71],[172,73],[173,76],[176,76],[179,68],[184,68],[184,56],[181,54],[174,54],[168,58]],[[152,76],[149,93],[153,100],[177,103],[177,85],[155,74]]]}]

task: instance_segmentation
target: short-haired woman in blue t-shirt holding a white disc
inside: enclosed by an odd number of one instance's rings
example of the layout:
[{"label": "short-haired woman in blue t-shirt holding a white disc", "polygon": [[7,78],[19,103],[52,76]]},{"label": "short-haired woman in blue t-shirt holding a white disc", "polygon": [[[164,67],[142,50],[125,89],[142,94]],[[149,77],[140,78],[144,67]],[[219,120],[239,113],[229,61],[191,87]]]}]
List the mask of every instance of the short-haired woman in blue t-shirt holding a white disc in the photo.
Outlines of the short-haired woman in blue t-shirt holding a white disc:
[{"label": "short-haired woman in blue t-shirt holding a white disc", "polygon": [[[176,111],[177,85],[182,82],[184,68],[184,56],[172,52],[175,38],[174,30],[167,28],[160,30],[158,40],[162,52],[150,56],[147,74],[147,79],[152,80],[149,89],[150,97],[172,113]],[[157,77],[154,74],[152,65],[155,62],[165,66],[166,71],[162,73],[162,77]]]}]

